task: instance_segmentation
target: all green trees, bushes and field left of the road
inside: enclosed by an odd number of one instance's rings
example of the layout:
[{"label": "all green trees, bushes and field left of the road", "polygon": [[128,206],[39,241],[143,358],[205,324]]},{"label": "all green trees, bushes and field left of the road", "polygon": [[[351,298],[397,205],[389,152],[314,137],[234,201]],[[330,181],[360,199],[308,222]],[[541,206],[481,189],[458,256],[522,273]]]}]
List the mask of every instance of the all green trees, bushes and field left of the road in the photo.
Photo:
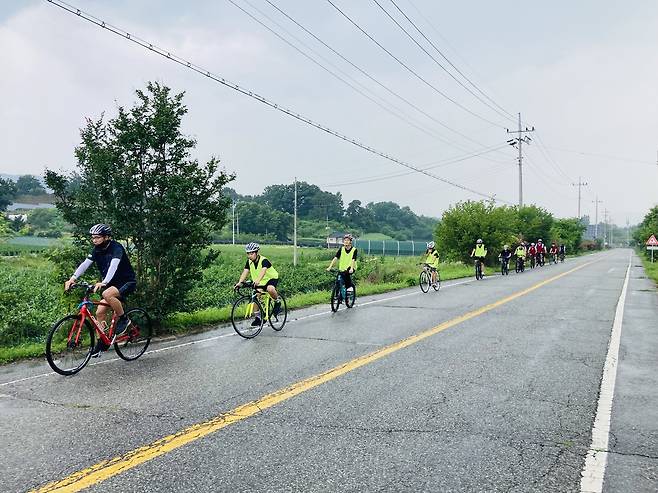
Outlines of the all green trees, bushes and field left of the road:
[{"label": "all green trees, bushes and field left of the road", "polygon": [[[63,282],[89,252],[87,231],[95,223],[111,224],[114,238],[126,246],[138,278],[130,304],[146,308],[160,334],[228,320],[247,241],[263,245],[290,308],[328,303],[333,276],[325,269],[334,250],[316,247],[330,233],[349,231],[382,243],[434,239],[443,280],[472,274],[469,254],[477,238],[487,244],[492,264],[504,243],[514,248],[521,240],[555,240],[567,245],[568,254],[582,249],[579,220],[556,219],[536,206],[460,202],[439,220],[394,202],[345,205],[340,192],[301,181],[298,239],[308,248],[299,250],[293,266],[292,248],[277,244],[291,241],[294,185],[240,195],[228,186],[234,176],[217,159],[193,159],[196,141],[181,133],[183,97],[148,83],[136,91],[132,107],[118,106],[113,118],[87,120],[71,173],[48,170],[45,183],[32,175],[15,182],[0,178],[0,212],[19,199],[56,206],[0,215],[0,362],[41,355],[48,329],[75,309],[79,293],[63,293]],[[234,235],[235,246],[214,244]],[[358,295],[416,285],[420,255],[364,253]],[[95,269],[88,276],[95,280]]]}]

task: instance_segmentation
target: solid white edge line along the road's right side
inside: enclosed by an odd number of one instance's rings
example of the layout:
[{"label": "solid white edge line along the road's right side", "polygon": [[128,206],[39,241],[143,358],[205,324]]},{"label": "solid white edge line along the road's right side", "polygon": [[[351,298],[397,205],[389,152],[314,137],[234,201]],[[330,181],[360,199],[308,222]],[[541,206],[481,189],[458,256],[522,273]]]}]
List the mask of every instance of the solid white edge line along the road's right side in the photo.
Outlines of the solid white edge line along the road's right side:
[{"label": "solid white edge line along the road's right side", "polygon": [[[601,390],[599,402],[596,408],[596,418],[592,428],[592,444],[589,446],[585,465],[581,472],[581,493],[600,493],[603,490],[603,478],[605,466],[608,462],[608,441],[610,437],[610,418],[612,417],[612,399],[615,394],[615,383],[617,381],[617,362],[619,359],[619,343],[621,341],[621,327],[624,320],[624,305],[626,304],[626,292],[631,275],[632,253],[628,258],[626,278],[624,287],[621,289],[615,320],[612,323],[612,334],[608,345],[608,354],[603,367],[601,378]],[[610,272],[610,271],[608,271]]]}]

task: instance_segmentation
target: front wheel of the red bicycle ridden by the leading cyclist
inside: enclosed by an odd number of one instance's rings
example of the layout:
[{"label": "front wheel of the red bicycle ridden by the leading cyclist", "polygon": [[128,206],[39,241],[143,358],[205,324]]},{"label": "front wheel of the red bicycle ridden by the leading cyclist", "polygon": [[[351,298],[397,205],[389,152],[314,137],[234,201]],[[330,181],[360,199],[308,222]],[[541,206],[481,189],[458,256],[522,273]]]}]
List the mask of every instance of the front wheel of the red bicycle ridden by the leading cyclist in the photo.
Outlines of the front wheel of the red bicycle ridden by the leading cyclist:
[{"label": "front wheel of the red bicycle ridden by the leading cyclist", "polygon": [[52,326],[46,339],[46,359],[60,375],[73,375],[91,358],[96,334],[89,320],[81,315],[68,315]]}]

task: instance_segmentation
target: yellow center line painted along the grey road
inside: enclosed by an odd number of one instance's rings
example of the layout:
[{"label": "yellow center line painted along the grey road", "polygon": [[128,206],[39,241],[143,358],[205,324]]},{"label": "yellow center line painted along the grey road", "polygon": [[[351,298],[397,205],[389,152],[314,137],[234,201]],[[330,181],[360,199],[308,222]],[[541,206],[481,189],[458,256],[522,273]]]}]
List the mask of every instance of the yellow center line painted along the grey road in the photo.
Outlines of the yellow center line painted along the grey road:
[{"label": "yellow center line painted along the grey road", "polygon": [[94,464],[91,467],[77,471],[62,480],[54,481],[33,491],[39,493],[75,492],[88,488],[94,484],[98,484],[102,481],[105,481],[106,479],[116,476],[117,474],[132,469],[133,467],[136,467],[144,462],[155,459],[156,457],[164,455],[167,452],[171,452],[172,450],[187,445],[188,443],[199,440],[200,438],[221,430],[222,428],[225,428],[233,423],[242,421],[243,419],[262,412],[267,408],[270,408],[280,402],[286,401],[298,394],[306,392],[307,390],[311,390],[319,385],[322,385],[323,383],[338,378],[341,375],[377,361],[378,359],[388,356],[389,354],[399,351],[400,349],[411,346],[412,344],[416,344],[417,342],[438,334],[439,332],[442,332],[450,327],[482,315],[483,313],[493,310],[494,308],[504,305],[505,303],[509,303],[510,301],[520,298],[521,296],[525,296],[526,294],[539,289],[546,284],[556,281],[561,277],[569,275],[579,269],[582,269],[583,267],[593,264],[594,262],[598,262],[599,260],[593,260],[591,262],[582,264],[571,270],[563,272],[562,274],[539,282],[527,289],[518,291],[510,296],[507,296],[506,298],[502,298],[494,303],[490,303],[481,308],[478,308],[477,310],[473,310],[471,312],[460,315],[459,317],[443,322],[436,327],[428,329],[424,332],[420,332],[416,335],[407,337],[406,339],[402,339],[398,342],[385,346],[370,354],[360,356],[356,359],[348,361],[347,363],[336,366],[335,368],[332,368],[331,370],[328,370],[324,373],[314,375],[310,378],[292,384],[289,387],[285,387],[283,389],[272,392],[271,394],[267,394],[256,401],[248,402],[238,406],[235,409],[227,413],[220,414],[219,416],[216,416],[209,421],[192,425],[179,431],[178,433],[168,435],[164,438],[156,440],[153,443],[144,445],[143,447],[139,447],[135,450],[131,450],[122,456],[99,462],[98,464]]}]

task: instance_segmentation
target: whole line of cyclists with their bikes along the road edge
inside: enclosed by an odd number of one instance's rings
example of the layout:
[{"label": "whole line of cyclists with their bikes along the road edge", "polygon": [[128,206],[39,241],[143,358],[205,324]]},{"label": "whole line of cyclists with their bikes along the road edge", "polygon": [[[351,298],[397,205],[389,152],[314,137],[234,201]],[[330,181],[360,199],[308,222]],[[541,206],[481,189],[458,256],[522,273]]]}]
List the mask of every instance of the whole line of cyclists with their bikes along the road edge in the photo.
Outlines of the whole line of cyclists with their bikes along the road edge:
[{"label": "whole line of cyclists with their bikes along the road edge", "polygon": [[[73,375],[80,371],[91,358],[99,357],[111,346],[125,360],[135,360],[146,352],[153,335],[151,318],[142,308],[125,308],[126,298],[137,288],[136,275],[125,248],[112,239],[112,228],[107,224],[96,224],[89,230],[92,252],[78,266],[74,274],[64,283],[65,291],[80,288],[84,295],[77,311],[53,325],[46,338],[46,359],[52,369],[62,375]],[[345,234],[343,245],[333,256],[327,271],[335,275],[331,291],[331,310],[338,311],[341,304],[352,308],[356,301],[356,285],[352,275],[357,270],[358,249],[354,238]],[[231,309],[231,324],[242,337],[256,337],[268,324],[280,331],[288,319],[286,299],[277,290],[279,273],[272,262],[260,254],[258,243],[245,246],[247,261],[238,282],[234,285],[237,299]],[[537,243],[520,242],[514,252],[505,245],[498,255],[501,275],[509,274],[509,263],[516,257],[515,271],[525,270],[527,259],[530,268],[550,263],[564,262],[565,246],[551,244],[546,249],[542,239]],[[484,277],[487,248],[478,239],[471,251],[475,259],[475,278]],[[338,263],[338,268],[334,265]],[[78,281],[80,276],[96,264],[102,280],[94,284]],[[430,287],[439,291],[439,253],[433,241],[427,243],[421,265],[419,284],[424,293]],[[247,277],[250,280],[247,281]],[[101,293],[102,301],[91,300],[91,295]],[[108,310],[112,311],[107,321]]]}]

